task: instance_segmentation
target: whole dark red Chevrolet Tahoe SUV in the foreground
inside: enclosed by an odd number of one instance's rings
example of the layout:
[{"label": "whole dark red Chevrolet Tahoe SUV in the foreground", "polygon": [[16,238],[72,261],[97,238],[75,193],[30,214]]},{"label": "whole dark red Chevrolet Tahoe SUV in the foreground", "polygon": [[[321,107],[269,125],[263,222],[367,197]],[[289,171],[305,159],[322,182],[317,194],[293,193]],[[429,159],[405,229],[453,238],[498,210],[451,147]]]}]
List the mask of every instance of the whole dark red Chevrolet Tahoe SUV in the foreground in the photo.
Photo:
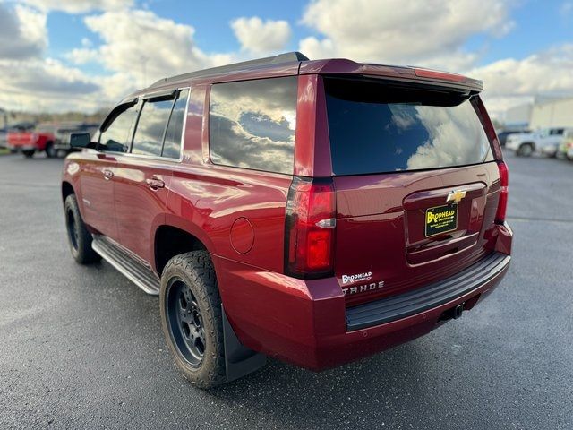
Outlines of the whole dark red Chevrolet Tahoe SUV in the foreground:
[{"label": "whole dark red Chevrolet Tahoe SUV in the foreground", "polygon": [[508,168],[458,74],[300,53],[163,79],[64,163],[73,257],[159,295],[210,387],[315,371],[458,318],[508,270]]}]

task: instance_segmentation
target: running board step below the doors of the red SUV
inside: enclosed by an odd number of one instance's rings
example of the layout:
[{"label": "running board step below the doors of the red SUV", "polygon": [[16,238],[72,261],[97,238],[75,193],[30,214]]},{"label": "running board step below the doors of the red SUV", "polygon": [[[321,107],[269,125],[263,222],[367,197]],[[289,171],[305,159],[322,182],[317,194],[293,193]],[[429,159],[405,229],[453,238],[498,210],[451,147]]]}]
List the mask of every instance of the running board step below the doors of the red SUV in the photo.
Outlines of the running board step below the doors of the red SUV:
[{"label": "running board step below the doors of the red SUV", "polygon": [[147,294],[159,294],[158,276],[105,236],[93,236],[93,250]]}]

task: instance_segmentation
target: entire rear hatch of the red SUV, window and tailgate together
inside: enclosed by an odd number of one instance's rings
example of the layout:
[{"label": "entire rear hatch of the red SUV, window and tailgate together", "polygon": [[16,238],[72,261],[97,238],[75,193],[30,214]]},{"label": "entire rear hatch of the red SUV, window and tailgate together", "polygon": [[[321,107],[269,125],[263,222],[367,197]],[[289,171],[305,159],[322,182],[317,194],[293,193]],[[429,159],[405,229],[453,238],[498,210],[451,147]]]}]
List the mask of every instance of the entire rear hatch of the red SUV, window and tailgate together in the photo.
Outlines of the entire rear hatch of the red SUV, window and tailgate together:
[{"label": "entire rear hatch of the red SUV, window and tailgate together", "polygon": [[491,252],[500,172],[470,90],[325,77],[346,305],[446,278]]}]

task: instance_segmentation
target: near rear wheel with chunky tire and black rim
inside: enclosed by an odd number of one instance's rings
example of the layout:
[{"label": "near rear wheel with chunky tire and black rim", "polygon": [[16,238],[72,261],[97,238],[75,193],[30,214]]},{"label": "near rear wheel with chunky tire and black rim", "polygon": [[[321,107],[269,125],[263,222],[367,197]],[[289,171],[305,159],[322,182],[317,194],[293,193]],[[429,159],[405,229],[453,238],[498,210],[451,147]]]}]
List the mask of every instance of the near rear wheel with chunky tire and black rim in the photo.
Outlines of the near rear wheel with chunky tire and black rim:
[{"label": "near rear wheel with chunky tire and black rim", "polygon": [[221,298],[207,251],[173,257],[159,291],[161,326],[175,364],[199,388],[227,381]]}]

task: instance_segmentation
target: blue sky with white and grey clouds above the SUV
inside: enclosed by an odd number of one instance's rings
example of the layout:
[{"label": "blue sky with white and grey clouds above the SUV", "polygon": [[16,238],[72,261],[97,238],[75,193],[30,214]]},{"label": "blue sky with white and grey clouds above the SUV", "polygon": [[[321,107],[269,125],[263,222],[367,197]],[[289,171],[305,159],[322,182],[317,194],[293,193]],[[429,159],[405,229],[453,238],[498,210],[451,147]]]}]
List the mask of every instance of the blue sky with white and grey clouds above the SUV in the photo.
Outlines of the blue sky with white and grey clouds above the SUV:
[{"label": "blue sky with white and grey clouds above the SUV", "polygon": [[467,73],[499,116],[573,95],[573,0],[0,0],[0,107],[91,111],[288,50]]}]

